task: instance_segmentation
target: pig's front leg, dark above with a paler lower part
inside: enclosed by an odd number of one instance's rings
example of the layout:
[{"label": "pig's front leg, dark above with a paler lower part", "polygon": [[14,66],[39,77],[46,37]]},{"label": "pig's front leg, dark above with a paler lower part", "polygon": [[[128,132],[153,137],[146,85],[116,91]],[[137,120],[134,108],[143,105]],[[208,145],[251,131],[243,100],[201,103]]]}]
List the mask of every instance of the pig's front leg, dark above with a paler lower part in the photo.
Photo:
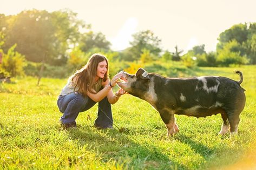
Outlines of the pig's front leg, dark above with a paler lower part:
[{"label": "pig's front leg, dark above with a paler lower part", "polygon": [[174,133],[179,131],[178,125],[175,123],[174,112],[164,109],[159,113],[167,127],[167,136],[173,136]]}]

